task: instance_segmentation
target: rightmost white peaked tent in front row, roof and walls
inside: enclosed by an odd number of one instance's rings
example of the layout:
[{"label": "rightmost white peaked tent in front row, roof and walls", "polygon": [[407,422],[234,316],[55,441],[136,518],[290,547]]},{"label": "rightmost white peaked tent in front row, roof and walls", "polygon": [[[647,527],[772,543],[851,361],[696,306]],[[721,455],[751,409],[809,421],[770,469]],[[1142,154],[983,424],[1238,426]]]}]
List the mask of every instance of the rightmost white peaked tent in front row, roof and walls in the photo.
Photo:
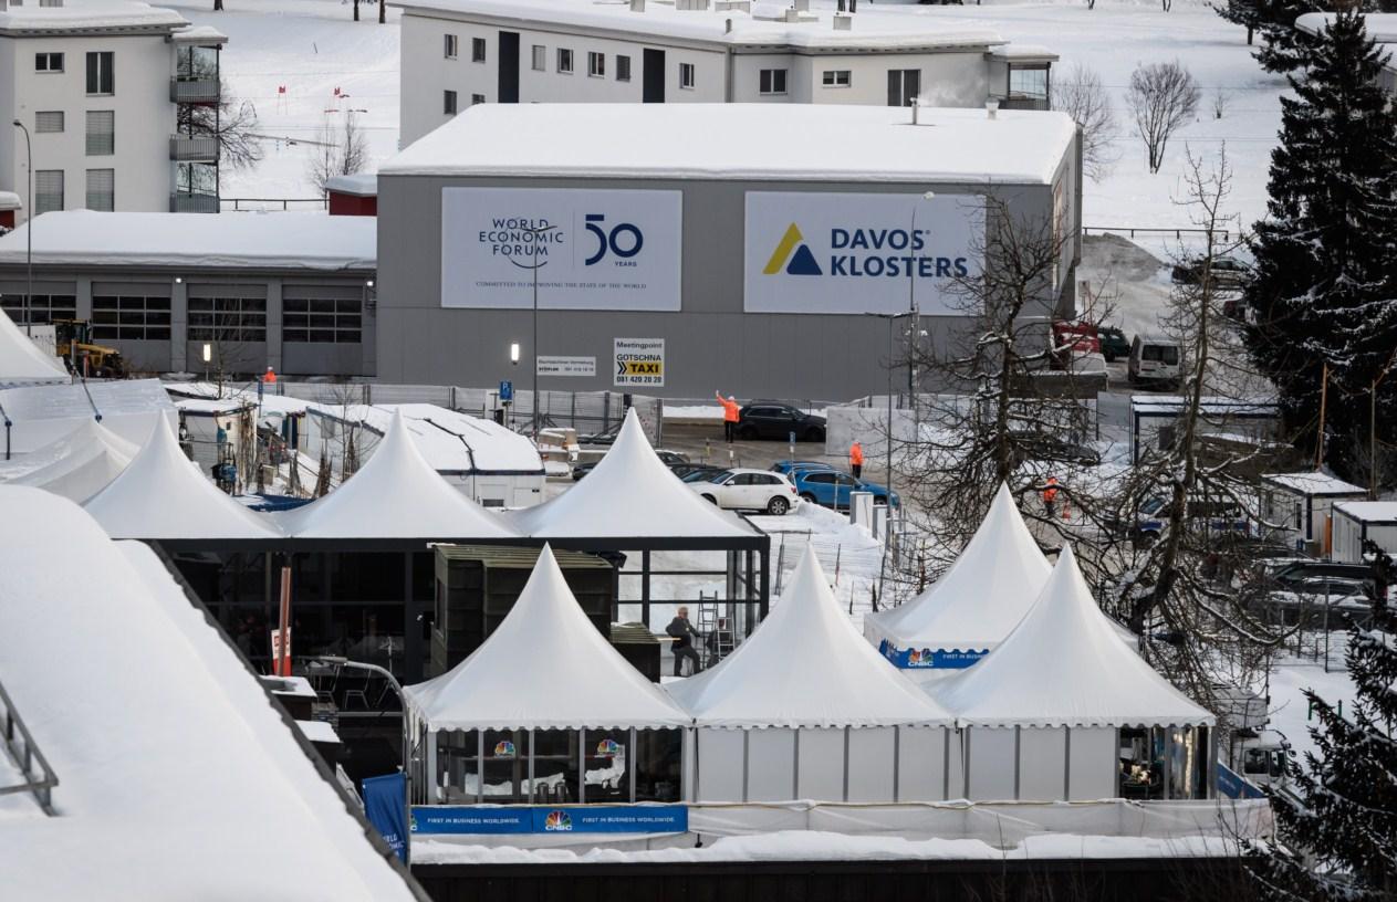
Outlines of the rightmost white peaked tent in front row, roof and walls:
[{"label": "rightmost white peaked tent in front row, roof and walls", "polygon": [[932,691],[970,727],[968,799],[1116,796],[1119,730],[1139,727],[1162,732],[1164,771],[1183,761],[1194,769],[1175,775],[1176,786],[1189,786],[1175,797],[1203,796],[1211,785],[1215,754],[1194,727],[1215,718],[1120,639],[1070,547],[1009,638]]}]

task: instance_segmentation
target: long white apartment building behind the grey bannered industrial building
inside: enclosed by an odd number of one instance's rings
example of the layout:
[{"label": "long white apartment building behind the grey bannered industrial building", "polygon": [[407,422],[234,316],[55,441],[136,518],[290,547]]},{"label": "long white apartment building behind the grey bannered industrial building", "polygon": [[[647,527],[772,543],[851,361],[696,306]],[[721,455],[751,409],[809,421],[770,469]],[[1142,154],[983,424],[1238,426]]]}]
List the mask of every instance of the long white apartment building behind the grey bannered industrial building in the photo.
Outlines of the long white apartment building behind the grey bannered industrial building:
[{"label": "long white apartment building behind the grey bannered industrial building", "polygon": [[1049,106],[1045,47],[854,0],[793,3],[398,0],[402,147],[476,103]]}]

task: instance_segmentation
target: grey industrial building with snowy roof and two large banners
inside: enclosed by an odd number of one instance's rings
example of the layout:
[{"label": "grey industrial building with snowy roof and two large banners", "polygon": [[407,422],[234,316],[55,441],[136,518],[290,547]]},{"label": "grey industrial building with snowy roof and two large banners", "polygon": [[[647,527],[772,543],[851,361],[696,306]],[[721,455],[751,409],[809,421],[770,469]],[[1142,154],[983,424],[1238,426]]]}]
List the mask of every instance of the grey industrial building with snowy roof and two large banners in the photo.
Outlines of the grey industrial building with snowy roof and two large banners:
[{"label": "grey industrial building with snowy roof and two large banners", "polygon": [[1062,230],[1034,314],[1070,316],[1063,113],[481,105],[380,169],[377,378],[527,387],[536,276],[541,388],[877,394],[890,325],[862,314],[916,309],[943,339],[985,195]]}]

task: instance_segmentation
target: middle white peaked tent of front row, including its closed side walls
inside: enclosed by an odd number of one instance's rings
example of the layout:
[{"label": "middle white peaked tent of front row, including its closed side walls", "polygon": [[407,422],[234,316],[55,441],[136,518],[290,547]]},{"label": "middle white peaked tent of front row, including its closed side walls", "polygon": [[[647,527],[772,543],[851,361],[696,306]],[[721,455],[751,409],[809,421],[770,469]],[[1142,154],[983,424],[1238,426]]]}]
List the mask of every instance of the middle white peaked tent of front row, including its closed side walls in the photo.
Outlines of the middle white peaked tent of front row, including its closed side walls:
[{"label": "middle white peaked tent of front row, including its closed side walls", "polygon": [[700,801],[946,797],[950,715],[859,637],[810,552],[746,642],[666,688],[694,718]]}]

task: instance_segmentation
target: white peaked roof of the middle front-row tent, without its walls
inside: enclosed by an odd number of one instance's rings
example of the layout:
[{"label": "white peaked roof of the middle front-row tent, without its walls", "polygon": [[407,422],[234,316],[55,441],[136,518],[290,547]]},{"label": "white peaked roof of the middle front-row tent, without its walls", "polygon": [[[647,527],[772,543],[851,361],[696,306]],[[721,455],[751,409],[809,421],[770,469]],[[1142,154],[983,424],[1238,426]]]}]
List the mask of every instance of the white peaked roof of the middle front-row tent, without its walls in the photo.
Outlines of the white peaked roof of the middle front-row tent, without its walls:
[{"label": "white peaked roof of the middle front-row tent, without its walls", "polygon": [[697,726],[950,723],[939,704],[859,637],[809,550],[781,602],[746,642],[711,670],[665,688]]}]

